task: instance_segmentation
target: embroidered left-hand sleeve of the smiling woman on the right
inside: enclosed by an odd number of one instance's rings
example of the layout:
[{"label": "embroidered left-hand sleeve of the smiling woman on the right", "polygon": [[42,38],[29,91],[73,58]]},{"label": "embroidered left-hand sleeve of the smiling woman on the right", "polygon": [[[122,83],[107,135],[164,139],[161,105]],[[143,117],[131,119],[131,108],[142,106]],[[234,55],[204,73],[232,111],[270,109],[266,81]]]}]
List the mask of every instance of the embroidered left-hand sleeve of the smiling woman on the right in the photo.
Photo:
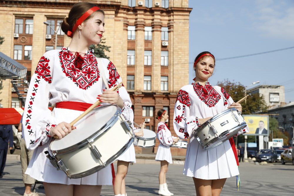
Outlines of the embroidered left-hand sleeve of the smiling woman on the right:
[{"label": "embroidered left-hand sleeve of the smiling woman on the right", "polygon": [[176,134],[181,139],[187,139],[191,135],[192,131],[200,126],[198,117],[190,115],[190,98],[188,90],[181,88],[175,105],[175,111],[173,114],[173,128]]}]

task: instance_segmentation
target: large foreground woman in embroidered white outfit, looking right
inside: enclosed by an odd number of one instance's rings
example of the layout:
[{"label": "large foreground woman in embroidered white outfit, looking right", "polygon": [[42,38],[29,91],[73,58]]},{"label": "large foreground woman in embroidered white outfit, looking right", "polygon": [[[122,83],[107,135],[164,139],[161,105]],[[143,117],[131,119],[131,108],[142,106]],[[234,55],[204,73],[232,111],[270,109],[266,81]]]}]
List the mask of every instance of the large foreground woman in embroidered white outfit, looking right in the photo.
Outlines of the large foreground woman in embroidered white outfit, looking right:
[{"label": "large foreground woman in embroidered white outfit, looking right", "polygon": [[[97,60],[88,51],[91,44],[101,41],[105,31],[104,12],[92,3],[74,4],[61,29],[72,37],[71,43],[67,48],[48,51],[41,57],[27,93],[22,124],[26,146],[35,150],[26,174],[43,181],[49,196],[100,195],[101,185],[111,185],[110,165],[92,175],[69,179],[63,171],[51,165],[44,152],[54,135],[61,139],[74,129],[69,122],[85,110],[76,108],[88,108],[100,95],[98,99],[102,104],[116,103],[122,108],[126,120],[132,122],[131,100],[124,87],[119,88],[119,94],[105,90]],[[108,87],[113,88],[122,79],[111,61],[105,58],[101,61]],[[48,109],[49,102],[56,104],[52,113]]]}]

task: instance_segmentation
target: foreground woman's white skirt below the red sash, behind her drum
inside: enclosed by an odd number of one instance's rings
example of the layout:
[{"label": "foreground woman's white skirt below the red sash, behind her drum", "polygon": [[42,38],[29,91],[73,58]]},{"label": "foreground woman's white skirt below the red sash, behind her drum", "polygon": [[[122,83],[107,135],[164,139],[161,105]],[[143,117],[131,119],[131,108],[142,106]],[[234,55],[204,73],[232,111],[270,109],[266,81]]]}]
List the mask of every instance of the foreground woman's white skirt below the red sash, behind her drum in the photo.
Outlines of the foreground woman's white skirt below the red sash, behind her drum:
[{"label": "foreground woman's white skirt below the red sash, behind her drum", "polygon": [[[77,110],[54,108],[53,115],[56,117],[56,119],[59,120],[58,123],[60,123],[63,121],[71,122],[77,116],[81,115],[81,113],[83,112]],[[57,170],[55,167],[53,167],[49,159],[46,157],[44,152],[49,151],[49,143],[50,142],[47,142],[34,150],[34,154],[25,172],[27,175],[30,175],[32,178],[38,181],[48,183],[58,183],[65,185],[112,185],[111,165],[108,165],[102,170],[86,177],[69,179],[63,171]]]}]

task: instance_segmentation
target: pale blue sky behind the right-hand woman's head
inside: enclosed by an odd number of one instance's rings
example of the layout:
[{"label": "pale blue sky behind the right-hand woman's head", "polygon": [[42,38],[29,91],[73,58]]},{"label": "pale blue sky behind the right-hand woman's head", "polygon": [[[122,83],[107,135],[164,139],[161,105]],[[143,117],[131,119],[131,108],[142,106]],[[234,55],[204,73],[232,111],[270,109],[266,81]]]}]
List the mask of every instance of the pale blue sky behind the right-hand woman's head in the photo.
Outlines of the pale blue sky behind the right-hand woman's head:
[{"label": "pale blue sky behind the right-hand woman's head", "polygon": [[294,0],[189,0],[189,83],[202,51],[216,58],[212,85],[229,79],[249,86],[283,85],[285,102],[294,101],[294,48],[218,61],[294,46]]}]

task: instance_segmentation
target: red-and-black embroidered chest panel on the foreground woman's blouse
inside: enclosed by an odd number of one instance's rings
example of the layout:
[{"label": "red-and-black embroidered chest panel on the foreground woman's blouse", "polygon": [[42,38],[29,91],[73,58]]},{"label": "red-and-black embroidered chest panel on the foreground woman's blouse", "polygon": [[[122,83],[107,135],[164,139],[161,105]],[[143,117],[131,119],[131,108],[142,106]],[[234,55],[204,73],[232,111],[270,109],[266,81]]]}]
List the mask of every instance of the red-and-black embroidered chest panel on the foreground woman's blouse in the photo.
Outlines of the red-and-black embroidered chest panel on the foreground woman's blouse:
[{"label": "red-and-black embroidered chest panel on the foreground woman's blouse", "polygon": [[62,48],[59,52],[59,61],[63,73],[81,89],[86,90],[100,78],[97,61],[92,53],[83,56],[83,62],[80,63],[81,70],[75,66],[76,57],[74,53],[66,48]]}]

